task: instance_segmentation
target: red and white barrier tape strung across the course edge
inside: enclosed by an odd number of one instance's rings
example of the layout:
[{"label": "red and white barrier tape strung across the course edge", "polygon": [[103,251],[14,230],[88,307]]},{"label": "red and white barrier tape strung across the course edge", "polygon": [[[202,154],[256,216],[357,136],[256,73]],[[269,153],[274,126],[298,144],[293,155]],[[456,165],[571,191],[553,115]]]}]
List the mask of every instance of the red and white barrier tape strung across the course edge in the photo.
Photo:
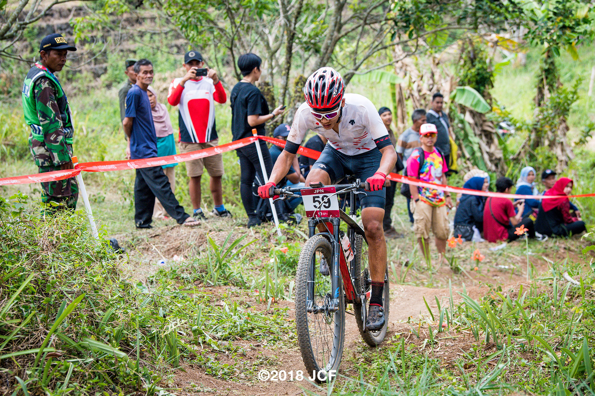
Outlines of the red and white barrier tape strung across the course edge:
[{"label": "red and white barrier tape strung across the course edge", "polygon": [[[7,184],[27,184],[27,183],[43,183],[46,181],[64,180],[70,177],[75,177],[81,171],[86,172],[108,172],[108,171],[121,171],[124,169],[139,169],[139,168],[150,168],[151,166],[161,166],[168,164],[175,164],[176,162],[192,161],[193,159],[205,158],[208,156],[224,153],[230,150],[236,150],[240,147],[248,146],[248,144],[256,142],[256,140],[262,139],[265,142],[273,143],[279,147],[285,147],[285,141],[281,139],[275,139],[274,137],[258,136],[258,137],[245,137],[243,139],[235,140],[234,142],[220,144],[215,147],[208,147],[202,150],[196,150],[184,154],[169,155],[165,157],[157,158],[143,158],[143,159],[129,159],[123,161],[98,161],[98,162],[83,162],[76,166],[76,169],[68,171],[52,171],[45,173],[38,173],[35,175],[26,176],[15,176],[0,178],[0,186]],[[308,158],[318,159],[320,152],[308,147],[300,146],[297,149],[297,153]],[[399,175],[396,173],[390,173],[386,177],[392,181],[398,181],[400,183],[412,184],[418,187],[435,188],[436,190],[449,191],[450,193],[462,193],[469,195],[478,195],[484,197],[501,197],[501,198],[513,198],[513,199],[550,199],[559,198],[560,196],[548,195],[521,195],[521,194],[505,194],[505,193],[493,193],[491,191],[478,191],[468,190],[467,188],[446,186],[444,184],[427,183],[412,177]],[[595,193],[590,194],[578,194],[569,195],[569,198],[574,197],[595,197]]]}]

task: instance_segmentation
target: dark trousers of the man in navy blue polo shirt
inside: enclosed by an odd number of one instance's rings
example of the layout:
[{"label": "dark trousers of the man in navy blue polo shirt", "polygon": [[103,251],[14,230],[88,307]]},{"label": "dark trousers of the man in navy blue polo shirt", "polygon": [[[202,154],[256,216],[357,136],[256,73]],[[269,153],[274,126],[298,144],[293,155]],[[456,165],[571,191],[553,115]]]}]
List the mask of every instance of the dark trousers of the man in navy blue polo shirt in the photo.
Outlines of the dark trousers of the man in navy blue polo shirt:
[{"label": "dark trousers of the man in navy blue polo shirt", "polygon": [[149,228],[153,221],[155,198],[161,202],[165,211],[182,224],[190,217],[171,192],[170,180],[161,166],[136,169],[134,181],[134,224],[138,228]]}]

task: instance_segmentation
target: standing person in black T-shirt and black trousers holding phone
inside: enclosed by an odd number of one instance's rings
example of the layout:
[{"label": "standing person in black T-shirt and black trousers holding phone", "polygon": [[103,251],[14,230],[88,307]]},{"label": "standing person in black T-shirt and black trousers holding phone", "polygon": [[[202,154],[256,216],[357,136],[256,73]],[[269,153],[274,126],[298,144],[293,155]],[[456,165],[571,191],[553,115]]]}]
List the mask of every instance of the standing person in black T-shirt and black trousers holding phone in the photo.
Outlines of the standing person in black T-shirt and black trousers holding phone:
[{"label": "standing person in black T-shirt and black trousers holding phone", "polygon": [[[264,123],[275,115],[283,113],[281,106],[269,113],[267,100],[262,95],[262,92],[254,86],[254,83],[260,78],[262,71],[260,69],[261,58],[255,54],[244,54],[237,59],[237,66],[242,72],[242,80],[237,83],[231,90],[231,133],[233,140],[242,139],[244,137],[252,136],[252,129],[256,128],[259,135],[264,136]],[[262,158],[264,159],[265,169],[270,175],[273,170],[273,162],[271,155],[268,152],[267,143],[264,140],[259,140],[255,144],[260,144]],[[256,146],[249,144],[236,150],[237,156],[240,159],[240,196],[242,196],[242,203],[244,209],[248,214],[248,227],[259,225],[260,219],[256,216],[256,203],[258,197],[252,195],[252,183],[258,173],[259,180],[264,184],[265,180],[262,175],[260,160]],[[282,215],[281,205],[275,204],[280,220],[286,220],[287,215]]]}]

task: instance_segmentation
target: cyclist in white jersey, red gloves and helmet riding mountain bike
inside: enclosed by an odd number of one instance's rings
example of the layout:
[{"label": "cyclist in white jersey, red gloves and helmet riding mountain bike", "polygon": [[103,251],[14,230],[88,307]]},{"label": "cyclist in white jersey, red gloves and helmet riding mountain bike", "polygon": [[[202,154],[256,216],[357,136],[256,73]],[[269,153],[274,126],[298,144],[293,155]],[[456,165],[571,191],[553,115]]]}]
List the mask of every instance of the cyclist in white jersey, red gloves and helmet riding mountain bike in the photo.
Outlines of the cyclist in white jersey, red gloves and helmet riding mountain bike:
[{"label": "cyclist in white jersey, red gloves and helmet riding mountain bike", "polygon": [[345,93],[343,78],[333,68],[315,71],[303,92],[306,102],[297,109],[285,148],[275,162],[268,184],[259,187],[258,194],[270,197],[269,188],[276,187],[287,174],[308,130],[324,136],[328,142],[312,165],[306,186],[314,182],[336,184],[347,174],[368,181],[371,191],[360,197],[360,203],[372,278],[366,327],[375,331],[386,321],[382,307],[386,271],[383,186],[397,154],[372,102],[364,96]]}]

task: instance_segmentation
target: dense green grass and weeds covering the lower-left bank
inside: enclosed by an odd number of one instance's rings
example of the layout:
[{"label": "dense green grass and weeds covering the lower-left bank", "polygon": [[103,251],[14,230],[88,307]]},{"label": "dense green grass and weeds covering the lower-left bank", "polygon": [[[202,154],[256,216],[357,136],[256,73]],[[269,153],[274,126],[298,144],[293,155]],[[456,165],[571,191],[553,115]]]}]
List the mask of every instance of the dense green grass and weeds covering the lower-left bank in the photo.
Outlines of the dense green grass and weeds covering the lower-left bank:
[{"label": "dense green grass and weeds covering the lower-left bank", "polygon": [[42,219],[27,208],[23,194],[0,202],[3,393],[165,395],[168,371],[183,360],[227,377],[235,372],[212,354],[238,360],[242,348],[228,341],[292,337],[285,310],[262,315],[226,295],[215,304],[192,278],[159,271],[135,285],[83,213]]}]

